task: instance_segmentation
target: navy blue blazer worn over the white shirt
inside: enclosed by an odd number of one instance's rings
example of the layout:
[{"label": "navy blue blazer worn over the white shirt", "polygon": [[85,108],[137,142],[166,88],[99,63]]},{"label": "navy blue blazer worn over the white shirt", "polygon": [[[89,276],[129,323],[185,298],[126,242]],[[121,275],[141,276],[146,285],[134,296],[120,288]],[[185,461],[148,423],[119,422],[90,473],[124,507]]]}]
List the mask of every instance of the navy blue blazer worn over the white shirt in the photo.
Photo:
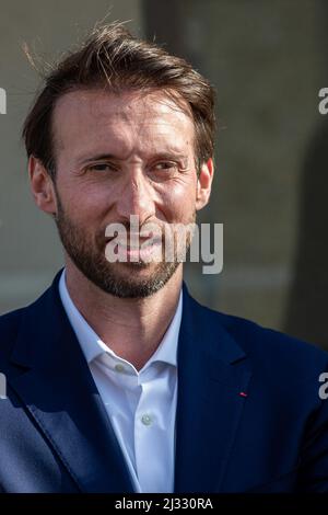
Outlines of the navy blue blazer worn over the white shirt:
[{"label": "navy blue blazer worn over the white shirt", "polygon": [[[0,317],[0,490],[132,492],[58,278]],[[328,491],[328,354],[194,300],[184,285],[175,492]]]}]

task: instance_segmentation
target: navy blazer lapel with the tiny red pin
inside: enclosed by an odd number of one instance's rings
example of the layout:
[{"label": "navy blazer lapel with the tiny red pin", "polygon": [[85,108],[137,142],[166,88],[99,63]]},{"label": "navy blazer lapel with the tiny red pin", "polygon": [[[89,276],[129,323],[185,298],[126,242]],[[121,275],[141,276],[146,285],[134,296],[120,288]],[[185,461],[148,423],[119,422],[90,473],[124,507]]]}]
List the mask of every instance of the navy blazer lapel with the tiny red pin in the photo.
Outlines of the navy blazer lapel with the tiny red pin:
[{"label": "navy blazer lapel with the tiny red pin", "polygon": [[184,287],[176,492],[220,492],[246,401],[249,360],[218,317]]}]

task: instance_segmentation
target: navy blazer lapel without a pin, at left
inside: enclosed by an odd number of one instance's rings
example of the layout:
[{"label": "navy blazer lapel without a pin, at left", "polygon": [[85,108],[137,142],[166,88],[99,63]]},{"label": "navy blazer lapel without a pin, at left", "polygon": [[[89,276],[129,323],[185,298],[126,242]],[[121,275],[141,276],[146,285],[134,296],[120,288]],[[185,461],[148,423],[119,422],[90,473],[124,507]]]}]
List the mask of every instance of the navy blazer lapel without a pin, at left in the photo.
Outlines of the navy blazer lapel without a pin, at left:
[{"label": "navy blazer lapel without a pin, at left", "polygon": [[[23,311],[9,380],[83,492],[133,492],[106,410],[58,294]],[[23,367],[23,371],[22,371]]]}]

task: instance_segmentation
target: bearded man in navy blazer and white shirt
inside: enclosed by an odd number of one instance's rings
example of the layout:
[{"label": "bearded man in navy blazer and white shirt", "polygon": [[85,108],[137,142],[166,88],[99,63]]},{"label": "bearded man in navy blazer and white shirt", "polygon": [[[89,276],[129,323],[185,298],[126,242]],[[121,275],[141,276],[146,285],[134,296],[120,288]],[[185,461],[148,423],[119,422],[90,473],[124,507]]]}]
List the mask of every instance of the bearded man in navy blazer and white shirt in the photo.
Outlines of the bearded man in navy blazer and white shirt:
[{"label": "bearded man in navy blazer and white shirt", "polygon": [[[328,490],[326,353],[200,306],[177,245],[164,259],[209,202],[213,103],[187,62],[120,24],[47,77],[24,139],[65,270],[0,319],[2,491]],[[125,260],[108,259],[115,224]]]}]

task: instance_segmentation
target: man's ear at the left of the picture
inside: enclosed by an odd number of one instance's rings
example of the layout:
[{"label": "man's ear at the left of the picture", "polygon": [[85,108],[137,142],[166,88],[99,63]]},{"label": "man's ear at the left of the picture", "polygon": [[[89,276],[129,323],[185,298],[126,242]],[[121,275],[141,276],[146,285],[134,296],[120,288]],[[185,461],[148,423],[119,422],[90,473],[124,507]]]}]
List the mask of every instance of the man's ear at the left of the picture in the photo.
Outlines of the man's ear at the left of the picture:
[{"label": "man's ear at the left of the picture", "polygon": [[39,209],[50,215],[57,213],[56,195],[52,180],[39,159],[28,159],[31,191]]}]

